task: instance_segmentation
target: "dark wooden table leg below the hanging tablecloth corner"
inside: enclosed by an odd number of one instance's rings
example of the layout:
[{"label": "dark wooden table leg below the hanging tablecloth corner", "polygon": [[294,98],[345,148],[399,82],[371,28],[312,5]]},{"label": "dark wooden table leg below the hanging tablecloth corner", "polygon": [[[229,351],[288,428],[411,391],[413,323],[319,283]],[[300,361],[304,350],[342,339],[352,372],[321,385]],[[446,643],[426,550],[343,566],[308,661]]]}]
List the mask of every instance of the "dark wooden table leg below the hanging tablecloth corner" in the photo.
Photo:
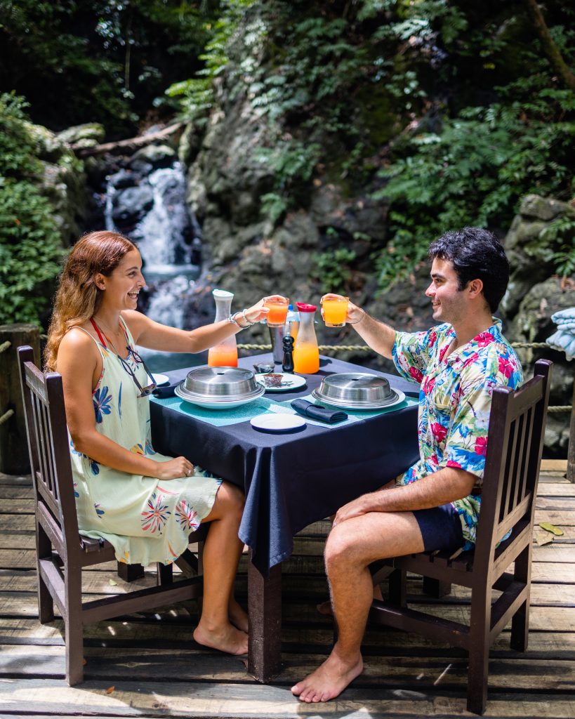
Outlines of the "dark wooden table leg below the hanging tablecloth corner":
[{"label": "dark wooden table leg below the hanging tablecloth corner", "polygon": [[247,670],[265,684],[281,670],[282,565],[264,579],[251,561],[247,570],[249,648]]}]

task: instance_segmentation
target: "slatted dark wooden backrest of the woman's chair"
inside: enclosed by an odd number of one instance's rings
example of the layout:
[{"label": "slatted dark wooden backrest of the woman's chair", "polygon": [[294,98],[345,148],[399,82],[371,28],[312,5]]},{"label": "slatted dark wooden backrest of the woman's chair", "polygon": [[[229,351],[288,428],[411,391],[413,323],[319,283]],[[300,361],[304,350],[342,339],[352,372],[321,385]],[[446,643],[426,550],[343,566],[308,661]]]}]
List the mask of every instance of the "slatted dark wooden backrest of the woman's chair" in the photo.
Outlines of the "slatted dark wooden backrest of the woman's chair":
[{"label": "slatted dark wooden backrest of the woman's chair", "polygon": [[51,531],[70,559],[80,543],[62,377],[40,372],[29,347],[19,347],[18,356],[35,499],[44,506],[37,516],[50,513]]}]

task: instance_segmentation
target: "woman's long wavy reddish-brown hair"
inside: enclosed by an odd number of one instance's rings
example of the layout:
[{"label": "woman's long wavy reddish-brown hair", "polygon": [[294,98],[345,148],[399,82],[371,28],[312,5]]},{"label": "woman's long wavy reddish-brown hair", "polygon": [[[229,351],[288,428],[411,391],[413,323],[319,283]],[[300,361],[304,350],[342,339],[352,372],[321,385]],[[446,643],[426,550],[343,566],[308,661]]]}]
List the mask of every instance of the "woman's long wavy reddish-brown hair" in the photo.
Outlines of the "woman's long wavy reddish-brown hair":
[{"label": "woman's long wavy reddish-brown hair", "polygon": [[98,311],[102,290],[96,287],[96,275],[109,277],[131,249],[137,248],[118,232],[90,232],[76,242],[60,275],[44,352],[46,370],[56,369],[58,347],[66,332]]}]

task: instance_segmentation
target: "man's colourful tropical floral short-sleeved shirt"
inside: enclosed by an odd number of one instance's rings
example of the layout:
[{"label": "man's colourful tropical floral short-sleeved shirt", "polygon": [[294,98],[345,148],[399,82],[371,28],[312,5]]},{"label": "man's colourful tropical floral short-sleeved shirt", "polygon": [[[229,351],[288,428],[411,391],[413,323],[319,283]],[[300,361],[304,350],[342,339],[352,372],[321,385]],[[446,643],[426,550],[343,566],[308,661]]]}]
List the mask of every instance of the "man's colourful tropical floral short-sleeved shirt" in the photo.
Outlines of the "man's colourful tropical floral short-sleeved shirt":
[{"label": "man's colourful tropical floral short-sleeved shirt", "polygon": [[460,467],[477,477],[469,497],[451,505],[459,513],[465,548],[475,541],[494,387],[515,389],[523,382],[517,354],[501,332],[501,321],[445,358],[455,337],[450,324],[426,332],[397,332],[393,361],[403,377],[420,383],[420,459],[398,485],[420,480],[443,467]]}]

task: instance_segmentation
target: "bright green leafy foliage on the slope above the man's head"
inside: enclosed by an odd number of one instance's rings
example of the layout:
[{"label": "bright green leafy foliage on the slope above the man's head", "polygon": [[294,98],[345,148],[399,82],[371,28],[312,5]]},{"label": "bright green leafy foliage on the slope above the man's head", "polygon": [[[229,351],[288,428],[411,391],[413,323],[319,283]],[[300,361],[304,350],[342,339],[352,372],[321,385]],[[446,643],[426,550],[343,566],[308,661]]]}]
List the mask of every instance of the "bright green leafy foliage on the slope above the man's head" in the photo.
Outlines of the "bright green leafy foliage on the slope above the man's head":
[{"label": "bright green leafy foliage on the slope above the man's head", "polygon": [[[381,171],[387,183],[376,193],[392,201],[392,240],[378,258],[381,285],[405,276],[447,229],[508,227],[527,193],[568,197],[574,102],[570,91],[546,89],[529,101],[464,109],[440,134],[408,139]],[[565,119],[552,122],[554,116]]]}]

